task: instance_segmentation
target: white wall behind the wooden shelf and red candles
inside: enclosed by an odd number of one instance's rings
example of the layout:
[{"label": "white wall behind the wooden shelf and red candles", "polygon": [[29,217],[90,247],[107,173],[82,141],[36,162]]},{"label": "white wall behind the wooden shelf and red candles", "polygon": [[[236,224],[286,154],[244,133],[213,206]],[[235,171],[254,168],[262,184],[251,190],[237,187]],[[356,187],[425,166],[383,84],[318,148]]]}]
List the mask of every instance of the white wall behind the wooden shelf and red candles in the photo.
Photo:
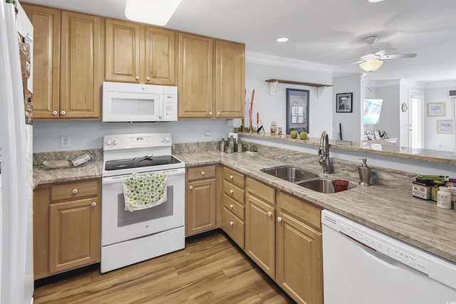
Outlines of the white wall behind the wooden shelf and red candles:
[{"label": "white wall behind the wooden shelf and red candles", "polygon": [[[331,85],[333,82],[332,70],[326,65],[307,64],[303,61],[292,61],[276,56],[246,52],[245,87],[247,99],[254,96],[254,125],[257,123],[257,112],[266,129],[270,131],[271,121],[286,132],[286,88],[309,90],[309,135],[318,137],[323,131],[332,130],[333,121],[333,89],[328,87],[318,97],[318,89],[307,85],[289,85],[279,83],[276,85],[274,95],[269,94],[269,83],[265,80],[276,78],[294,80],[308,83],[323,83]],[[246,106],[246,127],[249,125],[249,104]],[[240,125],[240,120],[236,120]],[[331,135],[330,135],[331,136]]]}]

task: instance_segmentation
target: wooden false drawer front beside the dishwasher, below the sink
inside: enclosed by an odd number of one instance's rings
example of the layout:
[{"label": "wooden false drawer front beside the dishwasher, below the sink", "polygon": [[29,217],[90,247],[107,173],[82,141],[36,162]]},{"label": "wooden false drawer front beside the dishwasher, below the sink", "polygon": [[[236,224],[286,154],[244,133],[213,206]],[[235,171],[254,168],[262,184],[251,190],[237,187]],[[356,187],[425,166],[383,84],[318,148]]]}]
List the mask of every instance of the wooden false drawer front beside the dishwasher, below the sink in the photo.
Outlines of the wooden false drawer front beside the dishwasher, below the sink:
[{"label": "wooden false drawer front beside the dishwasher, below the sink", "polygon": [[279,192],[277,204],[282,211],[306,221],[321,231],[321,208],[284,192]]}]

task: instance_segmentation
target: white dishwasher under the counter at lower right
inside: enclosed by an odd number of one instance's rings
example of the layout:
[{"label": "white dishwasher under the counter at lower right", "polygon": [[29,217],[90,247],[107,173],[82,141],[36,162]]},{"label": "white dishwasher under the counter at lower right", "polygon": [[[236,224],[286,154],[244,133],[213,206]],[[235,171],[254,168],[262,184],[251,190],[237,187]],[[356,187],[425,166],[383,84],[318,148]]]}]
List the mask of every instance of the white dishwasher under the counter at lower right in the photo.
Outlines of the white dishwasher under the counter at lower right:
[{"label": "white dishwasher under the counter at lower right", "polygon": [[455,304],[456,264],[328,210],[325,304]]}]

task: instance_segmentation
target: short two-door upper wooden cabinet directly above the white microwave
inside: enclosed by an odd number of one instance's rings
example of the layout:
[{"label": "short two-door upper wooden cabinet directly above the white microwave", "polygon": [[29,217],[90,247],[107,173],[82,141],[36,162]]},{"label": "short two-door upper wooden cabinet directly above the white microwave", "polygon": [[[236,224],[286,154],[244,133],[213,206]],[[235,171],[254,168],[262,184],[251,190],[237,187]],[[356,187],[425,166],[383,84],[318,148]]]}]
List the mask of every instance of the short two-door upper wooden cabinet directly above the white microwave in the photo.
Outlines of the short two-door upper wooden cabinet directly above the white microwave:
[{"label": "short two-door upper wooden cabinet directly above the white microwave", "polygon": [[175,85],[175,31],[106,19],[105,79]]}]

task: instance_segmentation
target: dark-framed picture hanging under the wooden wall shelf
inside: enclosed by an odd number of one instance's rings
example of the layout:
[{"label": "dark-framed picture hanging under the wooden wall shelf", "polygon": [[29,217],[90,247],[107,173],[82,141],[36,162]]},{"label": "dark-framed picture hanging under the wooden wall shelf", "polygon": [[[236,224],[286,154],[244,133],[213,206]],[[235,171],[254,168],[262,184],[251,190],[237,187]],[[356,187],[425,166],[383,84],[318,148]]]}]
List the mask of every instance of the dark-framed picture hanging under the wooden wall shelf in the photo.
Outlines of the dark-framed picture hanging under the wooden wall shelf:
[{"label": "dark-framed picture hanging under the wooden wall shelf", "polygon": [[286,134],[309,133],[309,90],[286,89]]}]

